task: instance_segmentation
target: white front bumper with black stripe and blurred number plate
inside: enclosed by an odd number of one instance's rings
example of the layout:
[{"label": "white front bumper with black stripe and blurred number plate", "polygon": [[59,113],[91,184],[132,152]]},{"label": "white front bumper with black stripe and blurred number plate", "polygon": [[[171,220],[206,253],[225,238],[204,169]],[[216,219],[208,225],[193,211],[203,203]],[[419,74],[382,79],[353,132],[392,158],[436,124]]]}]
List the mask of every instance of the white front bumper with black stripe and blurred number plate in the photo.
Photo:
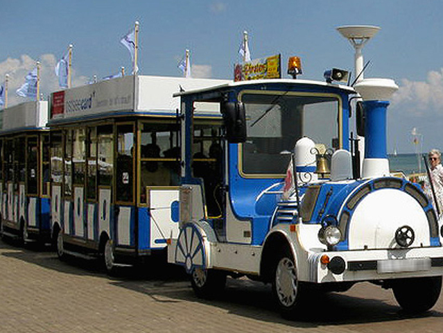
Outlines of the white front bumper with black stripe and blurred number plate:
[{"label": "white front bumper with black stripe and blurred number plate", "polygon": [[[321,258],[324,255],[330,262],[342,263],[343,269],[323,264]],[[309,276],[304,278],[314,283],[421,278],[443,275],[443,248],[318,252],[309,254],[308,263]]]}]

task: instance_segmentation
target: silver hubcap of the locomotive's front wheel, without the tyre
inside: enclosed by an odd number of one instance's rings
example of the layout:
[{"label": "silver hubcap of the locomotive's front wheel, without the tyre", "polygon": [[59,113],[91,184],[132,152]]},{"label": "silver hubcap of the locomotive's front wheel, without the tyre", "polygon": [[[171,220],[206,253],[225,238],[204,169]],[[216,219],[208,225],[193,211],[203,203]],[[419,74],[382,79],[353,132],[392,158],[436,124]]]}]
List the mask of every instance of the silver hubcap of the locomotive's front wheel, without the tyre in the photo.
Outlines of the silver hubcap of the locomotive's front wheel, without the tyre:
[{"label": "silver hubcap of the locomotive's front wheel, without the tyre", "polygon": [[297,297],[297,274],[292,260],[283,258],[275,272],[275,289],[282,305],[289,307]]}]

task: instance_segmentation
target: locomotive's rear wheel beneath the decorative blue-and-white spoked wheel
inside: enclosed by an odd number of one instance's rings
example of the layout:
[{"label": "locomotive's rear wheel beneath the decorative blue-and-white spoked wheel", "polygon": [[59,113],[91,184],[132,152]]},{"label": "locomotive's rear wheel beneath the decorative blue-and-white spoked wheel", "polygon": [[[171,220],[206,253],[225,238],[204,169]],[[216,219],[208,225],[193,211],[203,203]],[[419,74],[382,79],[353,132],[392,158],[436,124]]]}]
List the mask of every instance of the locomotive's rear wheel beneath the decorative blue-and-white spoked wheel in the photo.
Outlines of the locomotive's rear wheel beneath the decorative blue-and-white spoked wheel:
[{"label": "locomotive's rear wheel beneath the decorative blue-and-white spoked wheel", "polygon": [[225,288],[226,273],[214,269],[195,268],[191,274],[192,289],[200,298],[212,299]]}]

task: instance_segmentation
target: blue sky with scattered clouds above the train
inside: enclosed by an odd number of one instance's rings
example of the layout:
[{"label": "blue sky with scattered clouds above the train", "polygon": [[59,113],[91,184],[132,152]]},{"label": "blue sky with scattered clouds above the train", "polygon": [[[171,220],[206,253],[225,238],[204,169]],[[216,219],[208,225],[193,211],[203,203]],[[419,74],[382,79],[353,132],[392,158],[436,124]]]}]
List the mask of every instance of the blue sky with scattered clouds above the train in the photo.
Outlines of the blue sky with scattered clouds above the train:
[{"label": "blue sky with scattered clouds above the train", "polygon": [[[338,26],[380,26],[363,49],[365,78],[399,85],[388,109],[388,153],[443,150],[443,1],[438,0],[0,0],[0,84],[9,106],[40,60],[44,98],[59,90],[54,67],[73,44],[73,86],[125,67],[121,38],[139,22],[139,74],[182,76],[186,49],[193,77],[232,78],[249,35],[252,59],[302,58],[299,78],[323,80],[333,67],[354,71],[354,49]],[[286,74],[284,74],[286,77]],[[412,130],[419,138],[414,144]]]}]

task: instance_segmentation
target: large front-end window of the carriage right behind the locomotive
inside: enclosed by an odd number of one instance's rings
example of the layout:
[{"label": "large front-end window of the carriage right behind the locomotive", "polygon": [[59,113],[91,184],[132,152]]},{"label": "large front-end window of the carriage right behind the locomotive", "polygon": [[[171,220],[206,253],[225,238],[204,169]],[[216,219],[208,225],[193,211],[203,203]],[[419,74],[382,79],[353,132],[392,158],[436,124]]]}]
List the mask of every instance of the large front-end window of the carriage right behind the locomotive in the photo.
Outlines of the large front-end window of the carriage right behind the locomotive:
[{"label": "large front-end window of the carriage right behind the locomotive", "polygon": [[179,185],[180,144],[177,135],[175,121],[141,124],[141,202],[146,202],[146,187]]}]

